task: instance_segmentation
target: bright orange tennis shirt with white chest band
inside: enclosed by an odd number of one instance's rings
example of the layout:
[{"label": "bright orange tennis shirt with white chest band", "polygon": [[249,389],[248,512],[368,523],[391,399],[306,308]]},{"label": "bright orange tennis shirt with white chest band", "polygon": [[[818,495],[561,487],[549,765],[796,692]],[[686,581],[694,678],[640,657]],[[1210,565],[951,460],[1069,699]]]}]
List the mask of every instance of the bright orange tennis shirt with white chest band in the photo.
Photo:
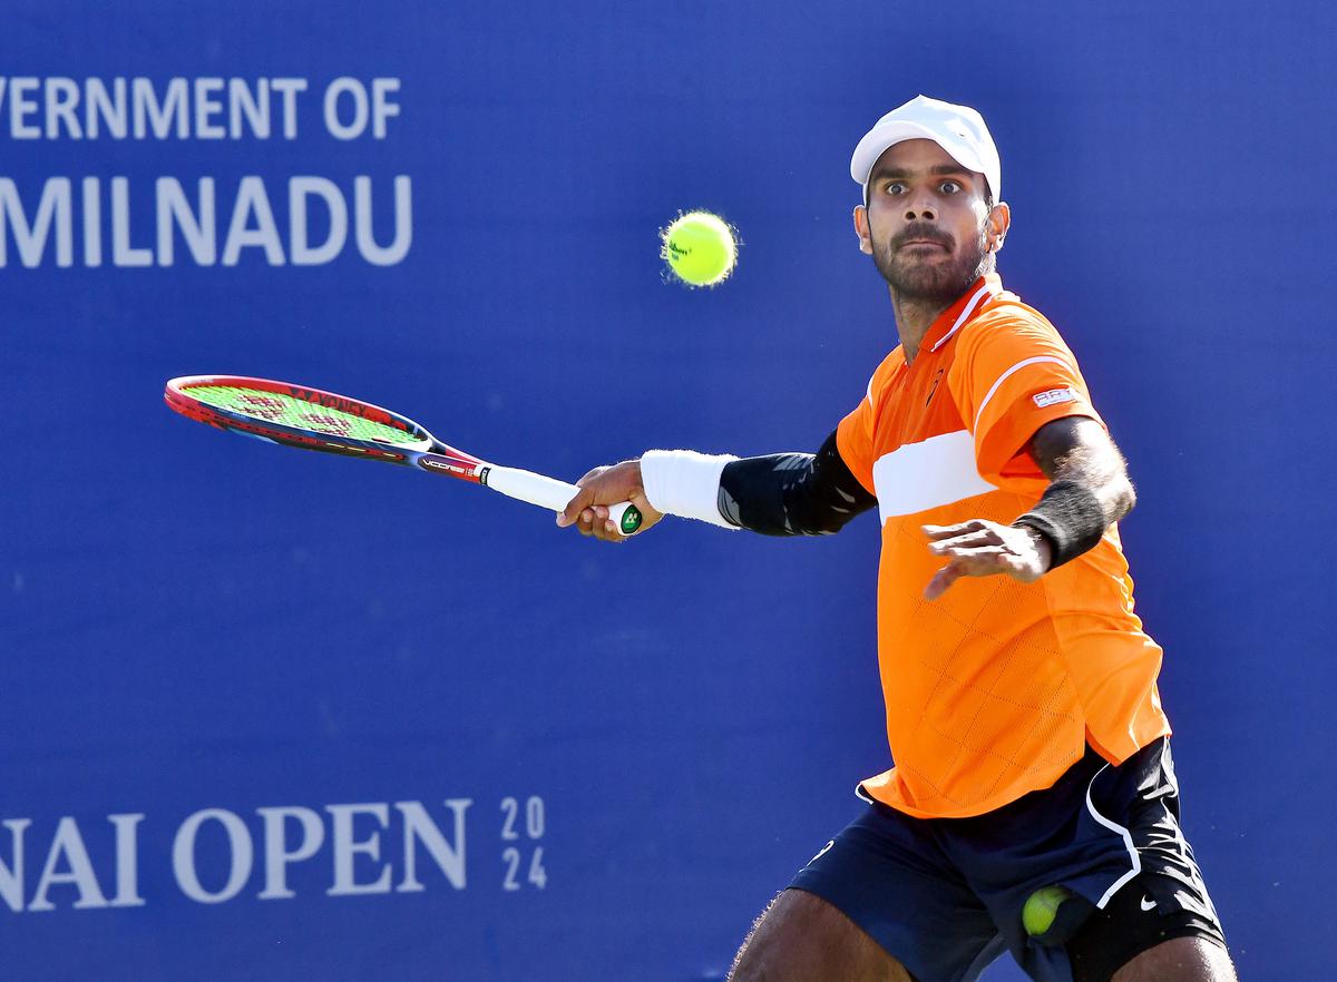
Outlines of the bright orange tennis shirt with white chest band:
[{"label": "bright orange tennis shirt with white chest band", "polygon": [[1027,445],[1067,416],[1100,420],[1076,359],[988,275],[912,363],[892,351],[840,424],[841,457],[882,521],[877,648],[896,766],[860,787],[893,808],[979,815],[1050,787],[1087,743],[1118,764],[1170,732],[1162,652],[1132,612],[1115,526],[1035,583],[967,577],[924,599],[945,560],[920,526],[1029,510],[1048,481]]}]

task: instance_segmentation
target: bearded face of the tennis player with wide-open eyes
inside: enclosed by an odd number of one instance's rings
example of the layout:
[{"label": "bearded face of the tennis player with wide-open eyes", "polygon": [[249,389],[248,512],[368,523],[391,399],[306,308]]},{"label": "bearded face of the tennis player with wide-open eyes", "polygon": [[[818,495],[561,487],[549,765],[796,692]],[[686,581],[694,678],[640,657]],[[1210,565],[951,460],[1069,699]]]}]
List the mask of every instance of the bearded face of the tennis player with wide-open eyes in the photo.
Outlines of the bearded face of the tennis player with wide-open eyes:
[{"label": "bearded face of the tennis player with wide-open eyes", "polygon": [[901,297],[955,301],[992,267],[989,247],[1007,231],[1005,206],[991,220],[985,191],[983,174],[932,140],[897,143],[873,164],[862,223],[856,211],[860,246]]}]

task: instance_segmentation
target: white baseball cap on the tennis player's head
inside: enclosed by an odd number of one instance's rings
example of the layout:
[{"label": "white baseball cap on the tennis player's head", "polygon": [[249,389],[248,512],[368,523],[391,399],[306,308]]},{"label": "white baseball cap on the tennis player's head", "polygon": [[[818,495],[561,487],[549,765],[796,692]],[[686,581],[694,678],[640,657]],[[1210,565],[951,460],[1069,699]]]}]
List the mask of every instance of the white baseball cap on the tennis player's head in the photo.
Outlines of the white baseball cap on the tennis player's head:
[{"label": "white baseball cap on the tennis player's head", "polygon": [[967,170],[983,174],[989,182],[993,200],[1003,200],[1003,166],[993,146],[984,116],[969,106],[955,106],[941,99],[917,95],[882,116],[864,134],[849,160],[849,176],[864,187],[868,200],[868,178],[877,158],[904,140],[933,140]]}]

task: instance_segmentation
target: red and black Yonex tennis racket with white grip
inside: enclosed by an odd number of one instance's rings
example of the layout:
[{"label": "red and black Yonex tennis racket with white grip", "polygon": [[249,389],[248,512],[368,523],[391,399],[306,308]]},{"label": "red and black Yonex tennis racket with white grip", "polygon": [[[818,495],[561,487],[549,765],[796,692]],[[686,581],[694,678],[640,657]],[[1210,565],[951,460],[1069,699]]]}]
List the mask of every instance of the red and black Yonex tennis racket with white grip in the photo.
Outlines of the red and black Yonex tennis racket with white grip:
[{"label": "red and black Yonex tennis racket with white grip", "polygon": [[[404,464],[429,474],[481,484],[531,505],[560,512],[580,490],[574,484],[519,468],[488,464],[443,444],[412,420],[370,402],[238,375],[186,375],[167,382],[167,406],[198,422],[259,437],[299,450]],[[630,502],[612,505],[608,518],[623,536],[642,522]]]}]

